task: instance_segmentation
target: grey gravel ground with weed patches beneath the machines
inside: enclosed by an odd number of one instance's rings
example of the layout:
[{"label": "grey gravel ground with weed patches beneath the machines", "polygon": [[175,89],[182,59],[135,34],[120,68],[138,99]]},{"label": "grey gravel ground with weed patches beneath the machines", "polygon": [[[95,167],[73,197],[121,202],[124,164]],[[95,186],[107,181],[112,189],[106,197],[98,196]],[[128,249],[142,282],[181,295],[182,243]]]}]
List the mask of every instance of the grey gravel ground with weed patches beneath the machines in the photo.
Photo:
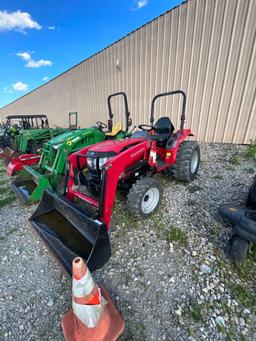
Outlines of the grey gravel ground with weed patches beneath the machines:
[{"label": "grey gravel ground with weed patches beneath the machines", "polygon": [[[245,158],[246,146],[200,147],[197,179],[162,178],[164,202],[150,220],[134,220],[118,196],[112,257],[94,278],[125,319],[121,340],[256,339],[256,252],[244,266],[231,264],[231,226],[217,212],[244,203],[255,161]],[[0,209],[0,340],[63,340],[70,278],[27,222],[35,206],[13,201],[8,181],[2,170],[0,199],[11,199]]]}]

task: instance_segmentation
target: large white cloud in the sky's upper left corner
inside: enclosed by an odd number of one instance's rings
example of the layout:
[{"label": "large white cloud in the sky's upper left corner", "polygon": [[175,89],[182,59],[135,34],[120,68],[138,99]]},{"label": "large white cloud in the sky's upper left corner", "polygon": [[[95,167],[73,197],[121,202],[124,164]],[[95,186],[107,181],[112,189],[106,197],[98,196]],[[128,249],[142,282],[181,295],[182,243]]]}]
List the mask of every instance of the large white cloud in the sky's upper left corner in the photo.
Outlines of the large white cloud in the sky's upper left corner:
[{"label": "large white cloud in the sky's upper left corner", "polygon": [[7,12],[0,11],[0,32],[2,31],[18,31],[25,33],[26,29],[40,30],[40,26],[34,21],[27,12]]}]

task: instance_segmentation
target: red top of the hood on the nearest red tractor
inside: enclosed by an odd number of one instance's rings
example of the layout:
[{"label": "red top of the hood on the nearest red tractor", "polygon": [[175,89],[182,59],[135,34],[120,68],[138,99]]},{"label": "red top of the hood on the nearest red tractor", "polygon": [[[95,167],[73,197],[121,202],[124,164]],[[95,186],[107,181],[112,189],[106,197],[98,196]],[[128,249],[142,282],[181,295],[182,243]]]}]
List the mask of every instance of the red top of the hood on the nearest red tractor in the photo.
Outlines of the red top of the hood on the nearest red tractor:
[{"label": "red top of the hood on the nearest red tractor", "polygon": [[103,142],[99,142],[91,146],[88,151],[93,152],[116,152],[120,153],[125,147],[134,145],[144,141],[144,138],[134,139],[134,138],[125,138],[123,140],[107,140]]}]

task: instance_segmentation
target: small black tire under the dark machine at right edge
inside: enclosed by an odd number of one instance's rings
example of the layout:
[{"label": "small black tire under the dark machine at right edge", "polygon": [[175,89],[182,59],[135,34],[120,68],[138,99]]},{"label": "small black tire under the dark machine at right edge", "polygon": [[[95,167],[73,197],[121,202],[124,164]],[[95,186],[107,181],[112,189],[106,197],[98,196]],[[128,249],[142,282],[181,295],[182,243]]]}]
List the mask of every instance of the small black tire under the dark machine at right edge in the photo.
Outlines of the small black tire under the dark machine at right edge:
[{"label": "small black tire under the dark machine at right edge", "polygon": [[246,260],[250,243],[238,235],[233,235],[230,240],[230,258],[235,264],[243,263]]}]

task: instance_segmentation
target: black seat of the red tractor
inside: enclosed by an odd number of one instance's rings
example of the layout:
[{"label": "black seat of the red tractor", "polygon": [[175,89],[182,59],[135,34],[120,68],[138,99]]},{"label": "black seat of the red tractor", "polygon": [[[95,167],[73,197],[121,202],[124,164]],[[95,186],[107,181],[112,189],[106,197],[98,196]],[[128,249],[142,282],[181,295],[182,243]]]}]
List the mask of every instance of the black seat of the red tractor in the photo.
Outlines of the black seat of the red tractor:
[{"label": "black seat of the red tractor", "polygon": [[169,117],[161,117],[154,125],[155,134],[150,136],[151,140],[157,141],[159,147],[164,147],[174,132],[174,126]]}]

